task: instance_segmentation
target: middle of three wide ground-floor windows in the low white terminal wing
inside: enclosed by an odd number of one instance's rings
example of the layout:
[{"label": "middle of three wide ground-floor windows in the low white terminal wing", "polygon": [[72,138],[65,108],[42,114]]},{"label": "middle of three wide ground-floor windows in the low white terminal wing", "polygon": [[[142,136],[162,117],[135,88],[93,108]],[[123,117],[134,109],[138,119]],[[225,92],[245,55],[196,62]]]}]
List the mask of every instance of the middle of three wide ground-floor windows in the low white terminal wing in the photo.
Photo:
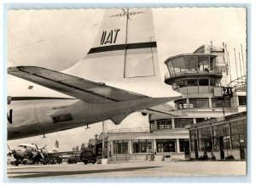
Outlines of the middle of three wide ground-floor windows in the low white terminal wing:
[{"label": "middle of three wide ground-floor windows in the low white terminal wing", "polygon": [[150,153],[153,152],[153,140],[136,139],[132,140],[133,153]]}]

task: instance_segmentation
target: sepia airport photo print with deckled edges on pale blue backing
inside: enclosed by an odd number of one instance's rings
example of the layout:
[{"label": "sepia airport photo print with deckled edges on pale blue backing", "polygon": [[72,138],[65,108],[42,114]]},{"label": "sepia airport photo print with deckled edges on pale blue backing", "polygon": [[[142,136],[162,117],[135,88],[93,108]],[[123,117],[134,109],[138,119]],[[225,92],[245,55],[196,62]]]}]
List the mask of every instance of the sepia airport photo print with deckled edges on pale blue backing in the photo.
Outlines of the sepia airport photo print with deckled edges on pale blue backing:
[{"label": "sepia airport photo print with deckled edges on pale blue backing", "polygon": [[9,181],[247,176],[247,13],[10,8]]}]

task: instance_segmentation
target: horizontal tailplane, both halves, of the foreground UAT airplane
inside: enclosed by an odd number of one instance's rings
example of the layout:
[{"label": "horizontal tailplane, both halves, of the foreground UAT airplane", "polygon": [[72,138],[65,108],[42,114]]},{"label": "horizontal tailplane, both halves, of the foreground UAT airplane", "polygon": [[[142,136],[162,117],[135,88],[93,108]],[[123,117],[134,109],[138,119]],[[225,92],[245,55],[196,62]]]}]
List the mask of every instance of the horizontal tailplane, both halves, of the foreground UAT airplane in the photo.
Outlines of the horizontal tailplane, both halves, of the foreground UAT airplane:
[{"label": "horizontal tailplane, both halves, of the foreground UAT airplane", "polygon": [[[9,67],[8,73],[88,103],[119,102],[148,98],[142,94],[110,87],[102,82],[91,82],[77,76],[37,66]],[[172,110],[167,104],[160,104],[159,106],[143,110],[143,112],[167,116],[183,116],[182,112]]]}]

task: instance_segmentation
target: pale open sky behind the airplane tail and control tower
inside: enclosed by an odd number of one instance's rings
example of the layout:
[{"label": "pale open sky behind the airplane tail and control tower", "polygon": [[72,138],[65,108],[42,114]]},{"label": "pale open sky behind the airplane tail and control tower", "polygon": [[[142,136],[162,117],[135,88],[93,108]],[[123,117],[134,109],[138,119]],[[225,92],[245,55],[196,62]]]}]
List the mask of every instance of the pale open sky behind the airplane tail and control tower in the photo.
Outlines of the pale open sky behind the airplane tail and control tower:
[{"label": "pale open sky behind the airplane tail and control tower", "polygon": [[[89,51],[100,28],[103,9],[15,10],[8,14],[8,66],[37,65],[52,70],[65,70],[82,59]],[[203,44],[222,47],[230,52],[231,75],[236,75],[236,60],[243,47],[246,61],[246,10],[244,8],[155,8],[154,29],[162,79],[167,72],[164,61],[173,55],[191,54]],[[15,77],[8,76],[7,95]],[[18,90],[17,90],[18,91]],[[120,125],[107,121],[107,130],[148,127],[148,117],[140,113],[128,116]],[[32,138],[10,140],[10,148],[20,143],[47,144],[52,149],[55,139],[61,150],[87,143],[100,134],[102,123]],[[77,137],[81,138],[77,138]]]}]

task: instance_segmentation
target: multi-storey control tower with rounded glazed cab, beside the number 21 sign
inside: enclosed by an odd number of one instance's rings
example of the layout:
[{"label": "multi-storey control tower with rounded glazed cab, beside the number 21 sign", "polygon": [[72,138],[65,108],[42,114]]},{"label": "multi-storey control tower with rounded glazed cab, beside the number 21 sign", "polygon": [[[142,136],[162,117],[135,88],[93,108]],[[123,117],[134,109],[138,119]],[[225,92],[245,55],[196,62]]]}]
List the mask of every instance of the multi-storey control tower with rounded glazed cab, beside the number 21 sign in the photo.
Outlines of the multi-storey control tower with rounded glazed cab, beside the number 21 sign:
[{"label": "multi-storey control tower with rounded glazed cab, beside the number 21 sign", "polygon": [[[193,54],[179,54],[165,61],[169,71],[166,84],[183,94],[182,99],[174,101],[175,109],[186,116],[150,115],[150,132],[168,132],[176,152],[183,152],[185,159],[189,158],[188,126],[246,110],[246,92],[230,87],[229,66],[224,56],[223,48],[203,45]],[[166,147],[171,143],[165,143],[162,149],[157,144],[157,152],[168,151]]]}]

